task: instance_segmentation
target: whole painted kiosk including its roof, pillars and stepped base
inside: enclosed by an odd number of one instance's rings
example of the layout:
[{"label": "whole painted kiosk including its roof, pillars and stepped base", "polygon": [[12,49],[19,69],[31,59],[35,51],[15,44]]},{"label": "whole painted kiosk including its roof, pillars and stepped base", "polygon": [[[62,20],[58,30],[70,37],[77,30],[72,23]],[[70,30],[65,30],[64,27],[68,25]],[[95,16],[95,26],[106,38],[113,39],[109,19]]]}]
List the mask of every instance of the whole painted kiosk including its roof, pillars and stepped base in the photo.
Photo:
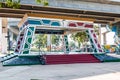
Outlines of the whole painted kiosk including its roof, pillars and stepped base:
[{"label": "whole painted kiosk including its roof, pillars and stepped base", "polygon": [[[25,14],[24,18],[19,23],[19,35],[17,39],[16,48],[13,54],[3,57],[3,65],[17,65],[17,64],[57,64],[58,63],[79,63],[82,62],[76,58],[88,59],[86,62],[100,62],[92,54],[69,54],[68,34],[86,31],[91,42],[92,48],[96,53],[103,53],[103,49],[97,40],[97,36],[93,29],[93,22],[83,22],[79,19],[63,19],[62,17],[50,17],[44,14]],[[64,54],[62,55],[34,55],[31,56],[31,44],[34,34],[61,34],[64,36]],[[89,59],[90,56],[90,59]],[[60,58],[59,58],[60,57]],[[19,59],[18,59],[19,58]],[[62,62],[54,62],[53,59],[66,58]],[[70,62],[70,60],[71,62]],[[71,59],[72,58],[72,59]],[[16,60],[18,59],[18,60]],[[52,59],[52,61],[51,61]],[[90,61],[91,60],[91,61]],[[68,61],[68,62],[67,62]],[[83,61],[85,62],[85,61]]]}]

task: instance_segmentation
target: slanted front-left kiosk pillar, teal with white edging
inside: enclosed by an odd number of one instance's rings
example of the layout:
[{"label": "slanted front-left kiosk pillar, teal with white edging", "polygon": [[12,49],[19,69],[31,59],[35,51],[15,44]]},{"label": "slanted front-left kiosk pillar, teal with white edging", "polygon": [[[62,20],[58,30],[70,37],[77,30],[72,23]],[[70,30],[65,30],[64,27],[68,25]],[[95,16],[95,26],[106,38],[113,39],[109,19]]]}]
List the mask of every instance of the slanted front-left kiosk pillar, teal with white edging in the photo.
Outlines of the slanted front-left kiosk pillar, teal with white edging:
[{"label": "slanted front-left kiosk pillar, teal with white edging", "polygon": [[19,50],[20,54],[30,54],[34,33],[35,27],[33,25],[28,25],[24,32],[23,41],[22,43],[20,42],[20,47],[22,46],[22,48]]}]

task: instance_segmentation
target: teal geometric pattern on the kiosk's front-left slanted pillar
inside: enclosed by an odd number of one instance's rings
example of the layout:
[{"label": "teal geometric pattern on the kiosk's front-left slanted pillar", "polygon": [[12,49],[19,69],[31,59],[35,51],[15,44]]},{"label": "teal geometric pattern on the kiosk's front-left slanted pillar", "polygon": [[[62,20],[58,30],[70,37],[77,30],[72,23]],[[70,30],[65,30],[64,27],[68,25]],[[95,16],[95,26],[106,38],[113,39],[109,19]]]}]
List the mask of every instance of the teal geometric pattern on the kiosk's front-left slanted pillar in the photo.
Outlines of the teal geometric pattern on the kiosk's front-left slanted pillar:
[{"label": "teal geometric pattern on the kiosk's front-left slanted pillar", "polygon": [[35,27],[27,28],[26,38],[23,43],[24,46],[22,48],[22,54],[29,54],[34,32]]}]

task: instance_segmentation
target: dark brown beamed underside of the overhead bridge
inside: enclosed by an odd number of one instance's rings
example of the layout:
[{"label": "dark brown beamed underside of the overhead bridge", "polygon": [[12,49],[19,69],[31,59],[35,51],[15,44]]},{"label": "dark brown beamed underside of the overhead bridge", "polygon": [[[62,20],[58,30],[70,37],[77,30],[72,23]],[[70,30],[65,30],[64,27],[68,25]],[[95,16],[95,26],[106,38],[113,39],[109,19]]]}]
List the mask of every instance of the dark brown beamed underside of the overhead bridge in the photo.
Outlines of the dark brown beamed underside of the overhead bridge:
[{"label": "dark brown beamed underside of the overhead bridge", "polygon": [[[4,3],[2,3],[4,4]],[[23,18],[26,13],[36,13],[48,18],[60,16],[61,19],[79,18],[82,21],[93,21],[94,23],[109,24],[119,21],[119,13],[100,12],[92,10],[65,9],[54,7],[40,7],[32,5],[21,5],[19,9],[12,9],[4,6],[0,8],[0,17]],[[44,14],[44,15],[43,15]]]}]

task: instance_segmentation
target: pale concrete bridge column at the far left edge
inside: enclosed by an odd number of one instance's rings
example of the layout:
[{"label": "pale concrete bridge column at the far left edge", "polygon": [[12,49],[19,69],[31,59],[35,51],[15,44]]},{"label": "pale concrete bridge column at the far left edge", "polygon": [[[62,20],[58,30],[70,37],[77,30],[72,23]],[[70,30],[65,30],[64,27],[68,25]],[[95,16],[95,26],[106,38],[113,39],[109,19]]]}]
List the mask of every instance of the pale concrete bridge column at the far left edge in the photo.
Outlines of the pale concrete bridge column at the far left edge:
[{"label": "pale concrete bridge column at the far left edge", "polygon": [[1,49],[2,53],[7,53],[7,18],[2,18],[2,36],[1,36]]}]

